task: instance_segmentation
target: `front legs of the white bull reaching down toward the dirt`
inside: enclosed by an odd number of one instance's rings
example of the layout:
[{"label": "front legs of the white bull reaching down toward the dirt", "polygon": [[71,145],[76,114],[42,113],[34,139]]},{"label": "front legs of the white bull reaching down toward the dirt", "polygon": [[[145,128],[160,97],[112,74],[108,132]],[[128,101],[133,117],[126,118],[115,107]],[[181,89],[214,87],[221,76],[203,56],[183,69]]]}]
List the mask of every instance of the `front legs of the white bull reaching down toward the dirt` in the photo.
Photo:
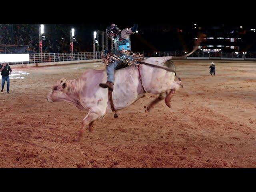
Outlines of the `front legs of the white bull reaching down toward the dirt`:
[{"label": "front legs of the white bull reaching down toward the dirt", "polygon": [[82,128],[80,129],[80,132],[79,132],[79,136],[77,139],[78,141],[80,141],[80,139],[82,138],[83,132],[86,128],[88,128],[89,132],[92,132],[92,124],[93,124],[94,120],[96,120],[99,117],[104,116],[104,111],[106,111],[106,110],[100,110],[100,109],[95,109],[95,108],[89,109],[88,114],[82,121]]}]

